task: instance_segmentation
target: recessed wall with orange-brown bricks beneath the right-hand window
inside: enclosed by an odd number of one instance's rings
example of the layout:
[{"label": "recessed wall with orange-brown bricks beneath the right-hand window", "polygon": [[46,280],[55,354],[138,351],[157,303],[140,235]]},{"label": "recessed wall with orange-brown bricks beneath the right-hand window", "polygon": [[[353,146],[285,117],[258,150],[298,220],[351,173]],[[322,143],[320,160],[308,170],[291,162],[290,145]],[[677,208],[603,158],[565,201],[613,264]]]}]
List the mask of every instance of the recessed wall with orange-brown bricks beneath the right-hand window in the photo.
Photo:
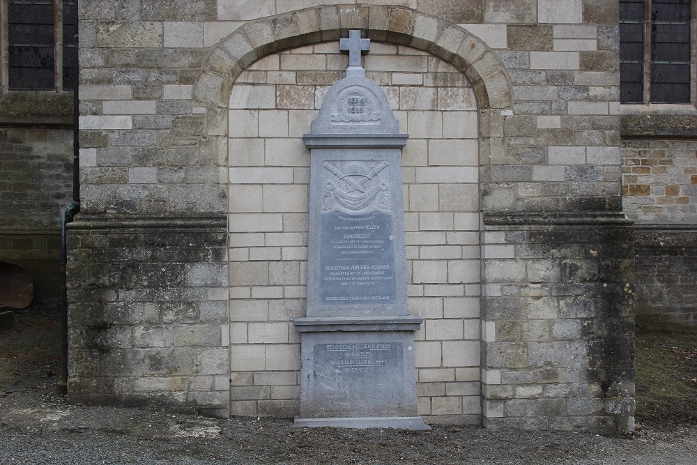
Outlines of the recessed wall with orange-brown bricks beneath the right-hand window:
[{"label": "recessed wall with orange-brown bricks beneath the right-hand window", "polygon": [[696,332],[697,119],[694,108],[658,107],[622,116],[622,199],[637,227],[636,322]]}]

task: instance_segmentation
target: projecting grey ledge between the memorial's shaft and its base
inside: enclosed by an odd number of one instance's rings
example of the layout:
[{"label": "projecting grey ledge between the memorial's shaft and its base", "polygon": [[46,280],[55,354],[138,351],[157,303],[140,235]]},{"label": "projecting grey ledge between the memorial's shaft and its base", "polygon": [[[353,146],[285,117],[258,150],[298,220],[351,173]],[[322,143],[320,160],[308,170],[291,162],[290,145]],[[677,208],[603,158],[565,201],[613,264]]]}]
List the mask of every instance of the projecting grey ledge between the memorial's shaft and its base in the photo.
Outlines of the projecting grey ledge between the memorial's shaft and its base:
[{"label": "projecting grey ledge between the memorial's shaft and its base", "polygon": [[298,333],[334,331],[415,331],[424,319],[414,315],[388,317],[301,317],[293,319]]}]

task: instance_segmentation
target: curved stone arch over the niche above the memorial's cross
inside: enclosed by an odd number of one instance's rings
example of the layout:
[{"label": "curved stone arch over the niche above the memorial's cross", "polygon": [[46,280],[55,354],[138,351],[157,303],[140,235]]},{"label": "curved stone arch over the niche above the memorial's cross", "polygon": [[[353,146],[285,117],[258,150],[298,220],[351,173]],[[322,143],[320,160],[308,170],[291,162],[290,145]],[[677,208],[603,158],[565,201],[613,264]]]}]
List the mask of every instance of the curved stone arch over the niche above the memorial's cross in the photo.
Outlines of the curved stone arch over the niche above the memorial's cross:
[{"label": "curved stone arch over the niche above the memorial's cross", "polygon": [[227,108],[233,82],[257,59],[282,49],[339,40],[349,29],[452,63],[473,85],[482,111],[512,105],[505,66],[482,40],[456,24],[394,6],[324,6],[247,22],[213,47],[194,83],[194,99],[204,107]]}]

